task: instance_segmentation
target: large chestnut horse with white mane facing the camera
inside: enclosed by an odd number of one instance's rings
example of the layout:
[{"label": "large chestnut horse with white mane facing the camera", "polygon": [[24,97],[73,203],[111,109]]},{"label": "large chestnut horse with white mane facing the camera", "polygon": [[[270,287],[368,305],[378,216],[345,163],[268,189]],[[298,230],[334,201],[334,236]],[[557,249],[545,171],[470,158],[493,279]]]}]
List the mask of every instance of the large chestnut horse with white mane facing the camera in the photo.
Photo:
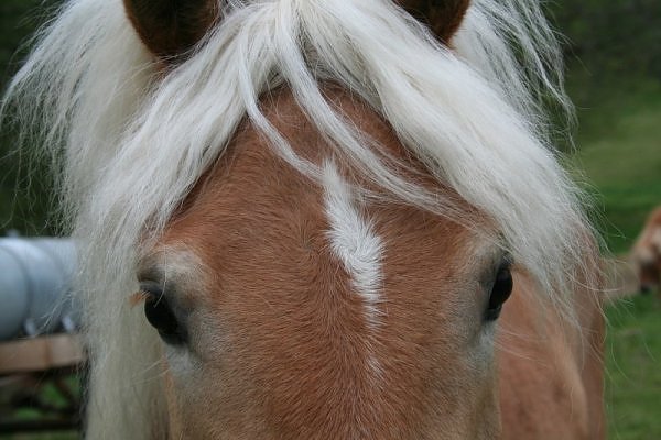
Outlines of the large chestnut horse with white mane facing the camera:
[{"label": "large chestnut horse with white mane facing the camera", "polygon": [[86,437],[604,438],[550,107],[532,0],[66,2],[3,113],[79,249]]}]

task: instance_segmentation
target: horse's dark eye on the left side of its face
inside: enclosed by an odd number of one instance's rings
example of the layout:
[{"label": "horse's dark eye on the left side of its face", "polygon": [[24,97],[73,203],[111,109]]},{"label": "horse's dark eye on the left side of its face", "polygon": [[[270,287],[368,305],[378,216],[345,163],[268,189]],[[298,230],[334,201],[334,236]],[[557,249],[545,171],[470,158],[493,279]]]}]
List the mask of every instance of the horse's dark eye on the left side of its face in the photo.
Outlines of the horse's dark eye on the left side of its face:
[{"label": "horse's dark eye on the left side of its face", "polygon": [[171,345],[185,344],[187,342],[185,328],[172,310],[162,288],[153,284],[142,284],[140,288],[145,295],[144,316],[148,322],[159,331],[163,342]]}]

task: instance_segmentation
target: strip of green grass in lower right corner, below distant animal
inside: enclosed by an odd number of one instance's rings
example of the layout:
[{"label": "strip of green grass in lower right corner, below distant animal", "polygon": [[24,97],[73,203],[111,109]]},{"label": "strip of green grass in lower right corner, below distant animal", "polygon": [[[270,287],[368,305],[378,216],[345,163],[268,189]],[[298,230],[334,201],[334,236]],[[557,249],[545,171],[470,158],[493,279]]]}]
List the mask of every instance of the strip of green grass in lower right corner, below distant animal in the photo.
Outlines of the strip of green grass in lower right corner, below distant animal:
[{"label": "strip of green grass in lower right corner, below distant animal", "polygon": [[661,300],[652,295],[622,299],[606,315],[608,437],[661,439]]}]

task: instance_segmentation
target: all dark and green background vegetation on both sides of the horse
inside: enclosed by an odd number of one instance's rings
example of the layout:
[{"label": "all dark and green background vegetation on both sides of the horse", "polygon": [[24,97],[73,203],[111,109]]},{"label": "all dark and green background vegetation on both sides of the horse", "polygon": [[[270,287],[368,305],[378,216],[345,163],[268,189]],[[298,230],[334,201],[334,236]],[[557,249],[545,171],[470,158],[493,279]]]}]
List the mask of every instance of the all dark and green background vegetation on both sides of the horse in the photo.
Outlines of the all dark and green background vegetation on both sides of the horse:
[{"label": "all dark and green background vegetation on both sides of the horse", "polygon": [[[14,55],[56,0],[0,1],[0,89]],[[625,253],[646,216],[661,205],[661,2],[556,0],[549,16],[566,36],[567,89],[577,111],[576,151],[568,162],[595,195],[595,218],[614,253]],[[2,70],[3,69],[3,70]],[[0,130],[0,233],[55,232],[51,180],[30,172]],[[29,185],[30,184],[30,185]],[[1,268],[0,268],[1,270]],[[661,306],[636,297],[609,306],[607,409],[609,438],[661,439]]]}]

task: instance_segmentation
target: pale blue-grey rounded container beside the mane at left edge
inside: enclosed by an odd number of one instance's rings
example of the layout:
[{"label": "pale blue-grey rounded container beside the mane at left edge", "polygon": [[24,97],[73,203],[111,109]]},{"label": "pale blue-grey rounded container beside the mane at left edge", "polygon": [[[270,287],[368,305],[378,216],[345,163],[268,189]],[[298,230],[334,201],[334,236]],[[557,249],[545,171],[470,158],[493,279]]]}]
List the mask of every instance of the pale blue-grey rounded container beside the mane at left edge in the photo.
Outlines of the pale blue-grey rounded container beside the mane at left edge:
[{"label": "pale blue-grey rounded container beside the mane at left edge", "polygon": [[73,331],[76,250],[69,239],[0,238],[0,341]]}]

